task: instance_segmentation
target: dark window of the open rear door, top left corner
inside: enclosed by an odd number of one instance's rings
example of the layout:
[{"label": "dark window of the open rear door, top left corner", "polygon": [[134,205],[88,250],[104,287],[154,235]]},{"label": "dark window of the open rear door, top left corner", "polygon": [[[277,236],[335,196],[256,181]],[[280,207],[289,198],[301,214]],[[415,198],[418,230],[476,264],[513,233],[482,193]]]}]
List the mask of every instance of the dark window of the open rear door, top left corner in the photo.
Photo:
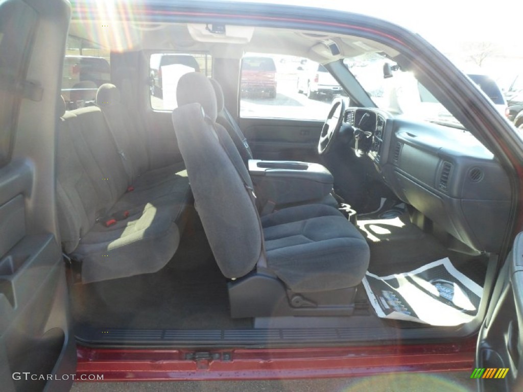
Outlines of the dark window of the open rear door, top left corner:
[{"label": "dark window of the open rear door, top left corner", "polygon": [[[8,8],[10,7],[10,8]],[[37,15],[22,2],[0,14],[0,167],[9,163]]]}]

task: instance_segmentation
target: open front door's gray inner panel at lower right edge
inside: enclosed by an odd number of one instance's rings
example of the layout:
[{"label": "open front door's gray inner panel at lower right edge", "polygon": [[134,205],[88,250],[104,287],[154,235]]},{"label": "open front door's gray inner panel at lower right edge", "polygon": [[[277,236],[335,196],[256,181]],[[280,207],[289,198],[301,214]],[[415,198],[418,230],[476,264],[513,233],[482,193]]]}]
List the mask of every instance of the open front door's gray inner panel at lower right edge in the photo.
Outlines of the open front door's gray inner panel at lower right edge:
[{"label": "open front door's gray inner panel at lower right edge", "polygon": [[523,233],[494,287],[478,337],[476,368],[481,391],[523,390]]}]

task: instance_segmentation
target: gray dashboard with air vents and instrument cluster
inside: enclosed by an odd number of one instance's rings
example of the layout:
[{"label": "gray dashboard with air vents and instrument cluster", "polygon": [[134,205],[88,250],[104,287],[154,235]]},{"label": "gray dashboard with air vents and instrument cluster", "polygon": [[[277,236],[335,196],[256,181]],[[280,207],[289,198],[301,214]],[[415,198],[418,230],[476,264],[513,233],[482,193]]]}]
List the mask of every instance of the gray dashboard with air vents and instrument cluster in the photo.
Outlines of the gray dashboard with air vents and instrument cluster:
[{"label": "gray dashboard with air vents and instrument cluster", "polygon": [[377,108],[347,108],[343,122],[359,136],[357,153],[399,199],[475,250],[501,249],[510,183],[473,135]]}]

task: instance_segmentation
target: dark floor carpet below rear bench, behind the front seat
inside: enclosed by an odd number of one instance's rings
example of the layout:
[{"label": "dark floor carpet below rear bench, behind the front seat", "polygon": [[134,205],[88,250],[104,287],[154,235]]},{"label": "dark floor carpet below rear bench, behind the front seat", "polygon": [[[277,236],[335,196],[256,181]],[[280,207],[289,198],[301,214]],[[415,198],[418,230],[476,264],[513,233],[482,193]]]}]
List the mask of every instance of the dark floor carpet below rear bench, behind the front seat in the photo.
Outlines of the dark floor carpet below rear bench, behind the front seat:
[{"label": "dark floor carpet below rear bench, behind the front seat", "polygon": [[167,266],[153,274],[74,285],[73,317],[81,328],[236,329],[226,280],[201,227],[186,230]]}]

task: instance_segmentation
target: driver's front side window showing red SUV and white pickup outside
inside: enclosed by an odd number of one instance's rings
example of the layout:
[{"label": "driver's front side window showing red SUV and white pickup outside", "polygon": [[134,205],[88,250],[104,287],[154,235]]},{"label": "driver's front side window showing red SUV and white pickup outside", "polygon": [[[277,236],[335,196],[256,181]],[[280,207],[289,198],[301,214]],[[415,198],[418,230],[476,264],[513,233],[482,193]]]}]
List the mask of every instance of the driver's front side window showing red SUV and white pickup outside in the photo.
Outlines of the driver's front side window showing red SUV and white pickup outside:
[{"label": "driver's front side window showing red SUV and white pickup outside", "polygon": [[241,69],[243,118],[323,121],[344,94],[323,65],[302,57],[247,53]]}]

